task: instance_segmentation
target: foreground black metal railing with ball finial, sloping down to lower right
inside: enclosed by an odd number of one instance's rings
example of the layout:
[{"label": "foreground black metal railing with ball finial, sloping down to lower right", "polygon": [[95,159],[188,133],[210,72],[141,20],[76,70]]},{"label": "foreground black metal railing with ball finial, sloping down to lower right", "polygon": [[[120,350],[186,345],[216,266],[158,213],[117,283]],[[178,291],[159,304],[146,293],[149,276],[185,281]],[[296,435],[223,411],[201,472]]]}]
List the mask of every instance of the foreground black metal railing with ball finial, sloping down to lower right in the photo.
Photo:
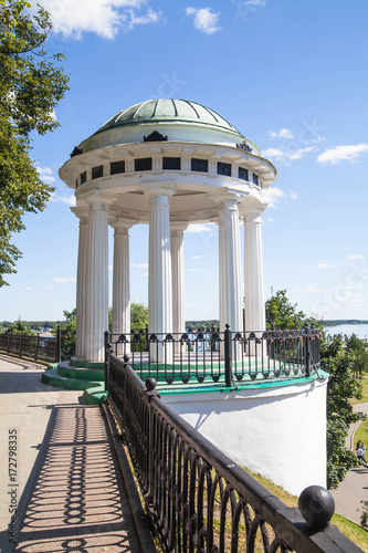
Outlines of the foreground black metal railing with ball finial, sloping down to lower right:
[{"label": "foreground black metal railing with ball finial, sloping down to lower right", "polygon": [[327,490],[302,492],[303,517],[170,409],[154,378],[145,387],[109,347],[106,366],[109,404],[165,552],[361,552],[329,524]]}]

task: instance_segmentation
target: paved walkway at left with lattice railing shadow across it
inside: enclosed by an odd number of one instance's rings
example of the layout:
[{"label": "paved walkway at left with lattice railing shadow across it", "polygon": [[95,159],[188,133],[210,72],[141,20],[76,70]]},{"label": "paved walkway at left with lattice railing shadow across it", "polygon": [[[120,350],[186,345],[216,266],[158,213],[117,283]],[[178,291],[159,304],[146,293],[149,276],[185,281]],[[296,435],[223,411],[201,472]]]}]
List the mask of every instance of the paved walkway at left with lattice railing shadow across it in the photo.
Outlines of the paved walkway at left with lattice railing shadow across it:
[{"label": "paved walkway at left with lattice railing shadow across it", "polygon": [[101,409],[43,369],[0,354],[1,553],[141,552]]}]

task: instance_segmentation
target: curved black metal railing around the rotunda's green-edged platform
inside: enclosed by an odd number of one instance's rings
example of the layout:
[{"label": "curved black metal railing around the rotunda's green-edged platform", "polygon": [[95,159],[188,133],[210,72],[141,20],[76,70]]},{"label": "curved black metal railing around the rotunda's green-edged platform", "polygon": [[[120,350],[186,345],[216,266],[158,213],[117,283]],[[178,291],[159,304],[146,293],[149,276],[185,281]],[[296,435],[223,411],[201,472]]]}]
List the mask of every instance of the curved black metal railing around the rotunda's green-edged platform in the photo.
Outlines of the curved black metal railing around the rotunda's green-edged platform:
[{"label": "curved black metal railing around the rotunda's green-edged platform", "polygon": [[116,356],[129,355],[141,379],[223,383],[236,386],[260,379],[311,376],[320,367],[320,330],[265,332],[187,331],[158,334],[148,331],[106,334]]}]

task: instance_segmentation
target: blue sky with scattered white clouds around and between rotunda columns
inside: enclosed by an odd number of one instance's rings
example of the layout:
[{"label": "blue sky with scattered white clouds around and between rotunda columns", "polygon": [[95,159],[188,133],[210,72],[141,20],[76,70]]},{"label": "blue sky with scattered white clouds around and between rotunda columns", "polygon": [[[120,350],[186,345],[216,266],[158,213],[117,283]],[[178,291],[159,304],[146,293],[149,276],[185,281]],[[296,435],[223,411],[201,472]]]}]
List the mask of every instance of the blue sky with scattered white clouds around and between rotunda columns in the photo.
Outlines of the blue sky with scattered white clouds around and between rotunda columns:
[{"label": "blue sky with scattered white clouds around and between rotunda columns", "polygon": [[[78,220],[57,170],[109,117],[158,97],[211,107],[277,167],[263,217],[265,296],[286,289],[307,314],[368,319],[366,0],[40,3],[71,90],[55,113],[62,126],[33,136],[55,192],[14,236],[23,257],[0,289],[0,321],[60,320],[75,306]],[[185,257],[186,317],[217,319],[215,227],[187,231]],[[132,301],[147,304],[147,227],[130,230],[130,262]]]}]

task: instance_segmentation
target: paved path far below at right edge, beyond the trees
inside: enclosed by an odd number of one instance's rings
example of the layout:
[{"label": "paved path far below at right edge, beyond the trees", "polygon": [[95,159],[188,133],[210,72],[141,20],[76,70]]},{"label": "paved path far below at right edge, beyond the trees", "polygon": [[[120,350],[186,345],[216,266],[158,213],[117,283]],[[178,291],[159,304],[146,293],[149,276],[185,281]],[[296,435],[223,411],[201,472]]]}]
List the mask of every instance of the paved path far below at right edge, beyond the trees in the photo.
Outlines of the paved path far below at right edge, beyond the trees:
[{"label": "paved path far below at right edge, beyond the trees", "polygon": [[[368,415],[368,404],[354,406],[355,411],[362,411]],[[358,424],[351,425],[346,447],[355,451],[355,441],[353,435]],[[360,524],[361,503],[368,501],[368,469],[358,467],[350,469],[346,474],[345,480],[339,484],[337,490],[332,490],[335,499],[335,511],[343,517]]]}]

